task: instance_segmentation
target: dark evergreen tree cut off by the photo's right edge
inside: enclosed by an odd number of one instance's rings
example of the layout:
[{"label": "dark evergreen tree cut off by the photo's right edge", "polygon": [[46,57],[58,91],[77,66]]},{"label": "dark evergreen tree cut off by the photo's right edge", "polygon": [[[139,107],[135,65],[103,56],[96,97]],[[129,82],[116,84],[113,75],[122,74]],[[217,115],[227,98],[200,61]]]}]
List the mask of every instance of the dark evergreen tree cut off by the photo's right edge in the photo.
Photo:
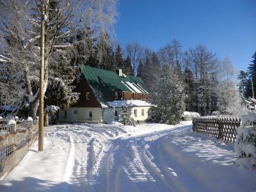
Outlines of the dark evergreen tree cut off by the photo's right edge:
[{"label": "dark evergreen tree cut off by the photo's right edge", "polygon": [[256,52],[254,52],[252,58],[253,58],[253,60],[251,61],[252,63],[250,63],[247,71],[248,80],[246,83],[246,91],[245,91],[245,97],[247,98],[253,97],[252,86],[253,86],[254,94],[256,92]]}]

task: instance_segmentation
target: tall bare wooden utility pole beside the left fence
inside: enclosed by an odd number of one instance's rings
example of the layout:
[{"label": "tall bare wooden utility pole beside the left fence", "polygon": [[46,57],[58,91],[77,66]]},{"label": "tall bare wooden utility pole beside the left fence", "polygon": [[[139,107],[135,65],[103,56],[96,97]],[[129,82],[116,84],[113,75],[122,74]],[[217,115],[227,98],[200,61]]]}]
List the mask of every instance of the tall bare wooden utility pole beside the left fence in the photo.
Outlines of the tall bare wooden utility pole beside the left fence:
[{"label": "tall bare wooden utility pole beside the left fence", "polygon": [[45,6],[41,6],[41,67],[40,67],[40,96],[39,96],[39,133],[38,151],[44,150],[44,35],[45,35]]}]

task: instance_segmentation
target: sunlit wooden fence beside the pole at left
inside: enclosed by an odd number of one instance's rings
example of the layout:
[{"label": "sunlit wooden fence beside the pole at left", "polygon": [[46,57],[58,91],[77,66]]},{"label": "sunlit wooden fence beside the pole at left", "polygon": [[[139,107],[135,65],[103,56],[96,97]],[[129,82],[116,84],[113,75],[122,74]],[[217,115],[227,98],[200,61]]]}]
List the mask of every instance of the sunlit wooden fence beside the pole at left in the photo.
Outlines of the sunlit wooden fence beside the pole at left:
[{"label": "sunlit wooden fence beside the pole at left", "polygon": [[0,177],[24,157],[38,136],[38,120],[0,127]]}]

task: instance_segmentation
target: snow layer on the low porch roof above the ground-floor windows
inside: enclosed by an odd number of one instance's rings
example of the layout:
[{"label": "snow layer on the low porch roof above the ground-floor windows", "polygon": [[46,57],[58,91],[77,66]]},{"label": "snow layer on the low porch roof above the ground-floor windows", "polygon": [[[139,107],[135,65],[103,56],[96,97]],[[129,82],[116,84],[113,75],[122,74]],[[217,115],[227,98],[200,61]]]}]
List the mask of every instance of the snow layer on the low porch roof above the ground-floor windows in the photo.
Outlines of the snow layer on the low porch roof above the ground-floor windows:
[{"label": "snow layer on the low porch roof above the ground-floor windows", "polygon": [[127,107],[140,107],[140,106],[151,106],[151,104],[145,100],[113,100],[107,102],[108,106],[111,108],[122,108],[122,106]]}]

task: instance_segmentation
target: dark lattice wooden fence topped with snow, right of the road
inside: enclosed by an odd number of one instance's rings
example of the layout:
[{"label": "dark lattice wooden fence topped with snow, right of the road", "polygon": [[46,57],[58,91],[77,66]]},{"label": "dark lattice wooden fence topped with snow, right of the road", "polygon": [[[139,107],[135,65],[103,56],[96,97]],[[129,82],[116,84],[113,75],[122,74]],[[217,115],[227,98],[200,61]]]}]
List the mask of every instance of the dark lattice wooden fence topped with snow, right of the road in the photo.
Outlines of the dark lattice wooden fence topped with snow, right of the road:
[{"label": "dark lattice wooden fence topped with snow, right of the road", "polygon": [[193,131],[206,134],[234,143],[236,141],[237,127],[240,126],[240,118],[229,116],[204,116],[193,118]]}]

